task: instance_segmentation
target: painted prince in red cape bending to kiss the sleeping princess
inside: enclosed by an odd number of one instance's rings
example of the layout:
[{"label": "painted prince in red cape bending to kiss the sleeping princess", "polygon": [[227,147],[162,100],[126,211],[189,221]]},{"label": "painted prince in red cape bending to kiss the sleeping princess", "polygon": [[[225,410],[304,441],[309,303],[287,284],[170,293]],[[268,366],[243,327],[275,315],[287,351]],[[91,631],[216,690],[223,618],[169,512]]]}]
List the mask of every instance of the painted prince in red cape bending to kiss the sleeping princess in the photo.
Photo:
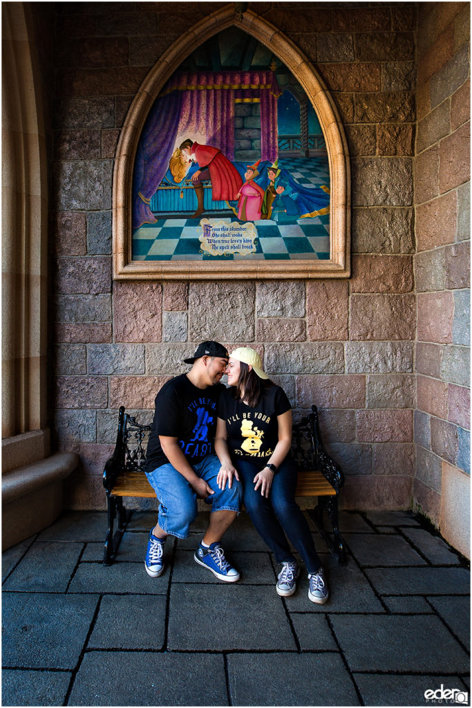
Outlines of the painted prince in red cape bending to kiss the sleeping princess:
[{"label": "painted prince in red cape bending to kiss the sleeping princess", "polygon": [[197,211],[192,219],[203,214],[203,182],[212,182],[213,201],[234,201],[243,181],[236,167],[217,147],[200,145],[189,138],[180,145],[180,151],[187,160],[197,162],[200,169],[192,174],[192,184],[197,195]]}]

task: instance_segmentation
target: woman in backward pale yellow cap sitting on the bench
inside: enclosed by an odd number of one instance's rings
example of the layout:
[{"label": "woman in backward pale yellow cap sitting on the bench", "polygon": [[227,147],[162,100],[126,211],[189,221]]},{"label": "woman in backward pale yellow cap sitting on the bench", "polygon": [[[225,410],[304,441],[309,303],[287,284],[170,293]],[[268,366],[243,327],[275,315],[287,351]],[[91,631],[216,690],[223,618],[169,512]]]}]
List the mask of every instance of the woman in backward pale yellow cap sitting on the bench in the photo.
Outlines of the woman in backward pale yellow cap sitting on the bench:
[{"label": "woman in backward pale yellow cap sitting on the bench", "polygon": [[230,388],[218,404],[215,452],[221,462],[218,486],[243,484],[243,501],[261,537],[282,564],[277,593],[292,595],[299,569],[284,532],[309,573],[309,599],[323,605],[328,587],[306,518],[295,501],[297,467],[289,455],[292,411],[284,391],[263,371],[258,353],[235,349],[227,367]]}]

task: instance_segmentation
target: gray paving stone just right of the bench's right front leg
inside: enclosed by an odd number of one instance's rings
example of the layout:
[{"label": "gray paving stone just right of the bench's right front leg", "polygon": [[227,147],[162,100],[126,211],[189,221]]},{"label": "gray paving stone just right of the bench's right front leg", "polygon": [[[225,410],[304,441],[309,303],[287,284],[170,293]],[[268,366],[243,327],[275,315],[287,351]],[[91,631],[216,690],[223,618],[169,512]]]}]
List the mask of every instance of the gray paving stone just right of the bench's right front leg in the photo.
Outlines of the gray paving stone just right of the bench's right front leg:
[{"label": "gray paving stone just right of the bench's right front leg", "polygon": [[427,562],[401,536],[345,534],[345,542],[362,566],[424,566]]}]

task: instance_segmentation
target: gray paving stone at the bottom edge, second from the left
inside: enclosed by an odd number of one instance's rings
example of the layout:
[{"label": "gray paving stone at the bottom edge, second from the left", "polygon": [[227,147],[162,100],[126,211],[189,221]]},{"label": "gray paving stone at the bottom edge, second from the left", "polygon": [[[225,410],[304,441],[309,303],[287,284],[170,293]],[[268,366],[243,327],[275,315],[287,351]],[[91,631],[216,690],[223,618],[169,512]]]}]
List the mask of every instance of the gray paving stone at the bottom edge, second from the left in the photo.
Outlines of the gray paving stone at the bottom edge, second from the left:
[{"label": "gray paving stone at the bottom edge, second from the left", "polygon": [[[139,676],[139,681],[137,680]],[[211,680],[207,677],[211,676]],[[105,680],[104,680],[105,679]],[[86,653],[74,681],[74,706],[223,706],[223,656],[120,651]]]}]

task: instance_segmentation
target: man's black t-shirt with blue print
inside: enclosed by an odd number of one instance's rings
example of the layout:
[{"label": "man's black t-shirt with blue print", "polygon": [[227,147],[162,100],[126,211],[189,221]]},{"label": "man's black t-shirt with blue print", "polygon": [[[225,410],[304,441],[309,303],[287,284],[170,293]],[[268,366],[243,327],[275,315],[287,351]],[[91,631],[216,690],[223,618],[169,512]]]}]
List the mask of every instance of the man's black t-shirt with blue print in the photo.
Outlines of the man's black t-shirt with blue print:
[{"label": "man's black t-shirt with blue print", "polygon": [[217,429],[217,403],[223,384],[199,389],[186,374],[171,379],[156,396],[156,411],[146,453],[146,472],[168,463],[159,435],[177,438],[190,464],[211,455]]}]

